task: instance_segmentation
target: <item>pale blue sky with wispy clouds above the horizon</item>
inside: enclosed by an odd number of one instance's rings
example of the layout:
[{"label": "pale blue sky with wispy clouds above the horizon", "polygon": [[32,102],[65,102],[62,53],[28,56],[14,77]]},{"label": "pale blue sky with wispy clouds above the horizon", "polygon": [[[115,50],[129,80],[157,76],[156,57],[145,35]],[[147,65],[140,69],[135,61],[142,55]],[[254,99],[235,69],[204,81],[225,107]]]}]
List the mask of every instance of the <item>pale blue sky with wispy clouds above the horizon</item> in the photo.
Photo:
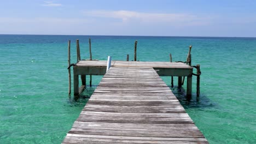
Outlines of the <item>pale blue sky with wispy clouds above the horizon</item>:
[{"label": "pale blue sky with wispy clouds above the horizon", "polygon": [[1,0],[0,34],[256,37],[256,1]]}]

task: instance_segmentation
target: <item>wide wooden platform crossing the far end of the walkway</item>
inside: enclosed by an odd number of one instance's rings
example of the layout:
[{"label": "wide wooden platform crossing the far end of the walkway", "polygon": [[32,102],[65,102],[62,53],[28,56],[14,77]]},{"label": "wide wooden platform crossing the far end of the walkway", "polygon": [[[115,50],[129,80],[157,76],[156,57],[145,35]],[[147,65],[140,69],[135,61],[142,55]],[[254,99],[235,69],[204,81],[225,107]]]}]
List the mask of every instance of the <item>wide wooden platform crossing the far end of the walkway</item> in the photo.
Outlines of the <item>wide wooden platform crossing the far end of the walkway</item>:
[{"label": "wide wooden platform crossing the far end of the walkway", "polygon": [[[187,95],[192,93],[193,67],[184,63],[171,62],[135,62],[135,61],[112,61],[111,67],[151,67],[159,76],[186,76]],[[79,94],[79,75],[104,75],[106,74],[107,61],[79,61],[74,65],[74,95]]]}]

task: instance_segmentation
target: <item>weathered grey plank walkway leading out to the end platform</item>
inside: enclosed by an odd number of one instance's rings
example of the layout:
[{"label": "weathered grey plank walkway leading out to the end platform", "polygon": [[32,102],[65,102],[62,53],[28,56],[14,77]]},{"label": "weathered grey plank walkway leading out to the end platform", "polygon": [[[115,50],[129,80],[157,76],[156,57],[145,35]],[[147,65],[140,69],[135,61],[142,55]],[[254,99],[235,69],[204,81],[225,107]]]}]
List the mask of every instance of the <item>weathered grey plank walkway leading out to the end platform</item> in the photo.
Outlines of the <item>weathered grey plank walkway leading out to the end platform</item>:
[{"label": "weathered grey plank walkway leading out to the end platform", "polygon": [[208,143],[150,67],[111,67],[63,143]]}]

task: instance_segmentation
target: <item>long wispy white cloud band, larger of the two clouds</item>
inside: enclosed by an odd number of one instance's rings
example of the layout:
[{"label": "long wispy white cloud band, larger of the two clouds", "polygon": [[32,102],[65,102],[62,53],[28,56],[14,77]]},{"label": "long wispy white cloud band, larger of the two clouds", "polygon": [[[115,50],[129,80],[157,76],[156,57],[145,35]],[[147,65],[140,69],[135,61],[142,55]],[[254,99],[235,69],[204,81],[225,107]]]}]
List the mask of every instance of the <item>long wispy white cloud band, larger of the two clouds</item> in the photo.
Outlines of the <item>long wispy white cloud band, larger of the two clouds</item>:
[{"label": "long wispy white cloud band, larger of the two clouds", "polygon": [[171,25],[205,25],[206,19],[209,17],[199,17],[193,14],[185,13],[140,13],[137,11],[128,10],[91,10],[83,11],[85,16],[91,17],[105,17],[120,19],[123,22],[140,21],[150,23],[170,22]]}]

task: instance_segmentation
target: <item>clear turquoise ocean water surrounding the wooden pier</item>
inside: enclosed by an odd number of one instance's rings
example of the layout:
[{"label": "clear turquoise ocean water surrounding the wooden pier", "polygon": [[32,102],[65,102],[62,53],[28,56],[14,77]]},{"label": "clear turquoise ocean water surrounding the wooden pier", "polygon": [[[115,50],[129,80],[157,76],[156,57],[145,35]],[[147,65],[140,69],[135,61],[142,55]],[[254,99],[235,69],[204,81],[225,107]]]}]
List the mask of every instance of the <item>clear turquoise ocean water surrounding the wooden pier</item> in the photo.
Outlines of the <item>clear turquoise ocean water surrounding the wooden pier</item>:
[{"label": "clear turquoise ocean water surrounding the wooden pier", "polygon": [[[201,97],[171,88],[210,143],[256,143],[256,38],[0,35],[0,143],[61,143],[88,99],[68,98],[67,41],[82,59],[126,60],[138,40],[139,61],[185,61],[201,65]],[[162,77],[168,86],[170,77]],[[90,95],[101,76],[92,76]],[[177,78],[174,77],[174,85]]]}]

